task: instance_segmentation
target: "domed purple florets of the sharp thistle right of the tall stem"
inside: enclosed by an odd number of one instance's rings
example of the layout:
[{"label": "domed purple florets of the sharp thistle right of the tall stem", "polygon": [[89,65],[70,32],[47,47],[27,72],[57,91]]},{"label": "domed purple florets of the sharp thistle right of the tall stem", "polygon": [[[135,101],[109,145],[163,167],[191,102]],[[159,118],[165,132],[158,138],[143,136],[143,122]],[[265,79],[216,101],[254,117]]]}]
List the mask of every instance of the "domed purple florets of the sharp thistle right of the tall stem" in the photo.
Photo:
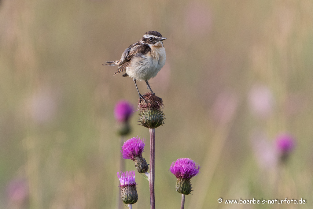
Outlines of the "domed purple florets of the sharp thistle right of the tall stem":
[{"label": "domed purple florets of the sharp thistle right of the tall stem", "polygon": [[191,179],[193,176],[198,175],[199,169],[200,166],[189,158],[179,158],[170,166],[170,171],[177,179]]}]

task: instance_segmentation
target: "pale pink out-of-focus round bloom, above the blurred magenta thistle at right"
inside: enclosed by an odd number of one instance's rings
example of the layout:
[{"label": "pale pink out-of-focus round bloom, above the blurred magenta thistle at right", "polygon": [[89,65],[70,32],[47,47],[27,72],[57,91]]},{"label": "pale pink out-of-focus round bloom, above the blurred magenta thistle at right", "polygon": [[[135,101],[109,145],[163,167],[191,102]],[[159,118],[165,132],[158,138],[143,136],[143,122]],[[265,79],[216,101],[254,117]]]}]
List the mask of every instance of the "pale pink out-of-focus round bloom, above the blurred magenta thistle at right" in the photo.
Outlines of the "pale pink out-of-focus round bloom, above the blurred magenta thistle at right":
[{"label": "pale pink out-of-focus round bloom, above the blurred magenta thistle at right", "polygon": [[248,101],[251,112],[260,118],[270,115],[274,106],[274,97],[265,85],[256,84],[249,91]]}]

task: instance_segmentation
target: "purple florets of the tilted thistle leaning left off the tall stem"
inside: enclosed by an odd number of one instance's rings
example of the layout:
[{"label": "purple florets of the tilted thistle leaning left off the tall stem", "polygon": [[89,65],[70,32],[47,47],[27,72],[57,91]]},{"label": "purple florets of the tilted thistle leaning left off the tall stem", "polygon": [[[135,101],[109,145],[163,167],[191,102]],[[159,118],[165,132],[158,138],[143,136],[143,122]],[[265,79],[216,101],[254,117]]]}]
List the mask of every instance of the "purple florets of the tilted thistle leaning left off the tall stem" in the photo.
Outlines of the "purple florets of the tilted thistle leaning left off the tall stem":
[{"label": "purple florets of the tilted thistle leaning left off the tall stem", "polygon": [[141,140],[141,137],[133,137],[124,142],[122,146],[122,155],[124,159],[132,159],[134,160],[136,156],[141,156],[143,153],[143,149],[146,144],[146,139],[144,141]]}]

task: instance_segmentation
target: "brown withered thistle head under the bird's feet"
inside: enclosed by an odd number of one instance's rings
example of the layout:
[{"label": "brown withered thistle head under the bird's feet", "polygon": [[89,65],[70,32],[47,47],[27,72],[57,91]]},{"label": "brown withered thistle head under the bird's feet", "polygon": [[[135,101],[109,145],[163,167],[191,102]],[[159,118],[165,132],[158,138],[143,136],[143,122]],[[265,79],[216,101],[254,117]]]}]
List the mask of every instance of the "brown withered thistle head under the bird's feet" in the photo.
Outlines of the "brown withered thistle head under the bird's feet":
[{"label": "brown withered thistle head under the bird's feet", "polygon": [[164,113],[162,112],[163,102],[160,97],[151,93],[142,96],[145,100],[139,100],[138,105],[141,109],[138,122],[146,128],[157,128],[164,124]]}]

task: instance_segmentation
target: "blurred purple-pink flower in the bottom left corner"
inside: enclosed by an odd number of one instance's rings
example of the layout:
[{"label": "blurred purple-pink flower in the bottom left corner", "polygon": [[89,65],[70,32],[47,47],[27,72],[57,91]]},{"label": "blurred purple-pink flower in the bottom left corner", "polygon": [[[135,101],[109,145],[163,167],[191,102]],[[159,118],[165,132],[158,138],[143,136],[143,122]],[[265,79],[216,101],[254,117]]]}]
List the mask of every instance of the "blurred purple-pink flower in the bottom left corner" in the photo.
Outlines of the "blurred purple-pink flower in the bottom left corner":
[{"label": "blurred purple-pink flower in the bottom left corner", "polygon": [[21,205],[28,198],[28,185],[24,179],[13,179],[8,183],[7,196],[8,201]]}]

